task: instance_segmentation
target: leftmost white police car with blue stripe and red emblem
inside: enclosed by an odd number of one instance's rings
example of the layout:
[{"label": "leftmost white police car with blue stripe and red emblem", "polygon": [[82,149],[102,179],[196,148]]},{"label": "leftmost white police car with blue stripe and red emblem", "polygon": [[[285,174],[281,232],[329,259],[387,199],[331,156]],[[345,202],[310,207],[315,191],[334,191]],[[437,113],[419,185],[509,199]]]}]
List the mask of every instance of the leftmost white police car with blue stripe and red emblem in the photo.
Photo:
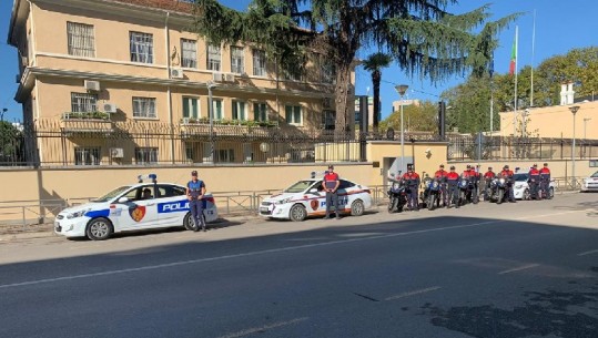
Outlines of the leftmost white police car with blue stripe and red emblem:
[{"label": "leftmost white police car with blue stripe and red emblem", "polygon": [[[154,174],[140,176],[140,183],[113,190],[90,203],[63,209],[57,215],[54,233],[67,237],[107,239],[113,233],[184,226],[193,229],[185,187],[158,183]],[[143,183],[143,178],[151,180]],[[204,217],[217,218],[214,197],[204,199]]]}]

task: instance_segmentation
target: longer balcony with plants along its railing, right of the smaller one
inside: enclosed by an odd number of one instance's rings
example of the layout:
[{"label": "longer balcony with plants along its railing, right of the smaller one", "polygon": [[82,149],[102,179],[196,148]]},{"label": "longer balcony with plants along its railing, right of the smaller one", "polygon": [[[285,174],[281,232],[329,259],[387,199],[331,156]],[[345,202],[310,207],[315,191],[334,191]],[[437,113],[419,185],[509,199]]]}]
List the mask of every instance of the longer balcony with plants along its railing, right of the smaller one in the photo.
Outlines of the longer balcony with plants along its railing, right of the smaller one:
[{"label": "longer balcony with plants along its railing, right of the smaller one", "polygon": [[[245,121],[245,120],[214,120],[214,134],[216,135],[267,135],[278,130],[277,121]],[[184,117],[180,121],[183,137],[209,136],[210,120],[207,117]]]}]

